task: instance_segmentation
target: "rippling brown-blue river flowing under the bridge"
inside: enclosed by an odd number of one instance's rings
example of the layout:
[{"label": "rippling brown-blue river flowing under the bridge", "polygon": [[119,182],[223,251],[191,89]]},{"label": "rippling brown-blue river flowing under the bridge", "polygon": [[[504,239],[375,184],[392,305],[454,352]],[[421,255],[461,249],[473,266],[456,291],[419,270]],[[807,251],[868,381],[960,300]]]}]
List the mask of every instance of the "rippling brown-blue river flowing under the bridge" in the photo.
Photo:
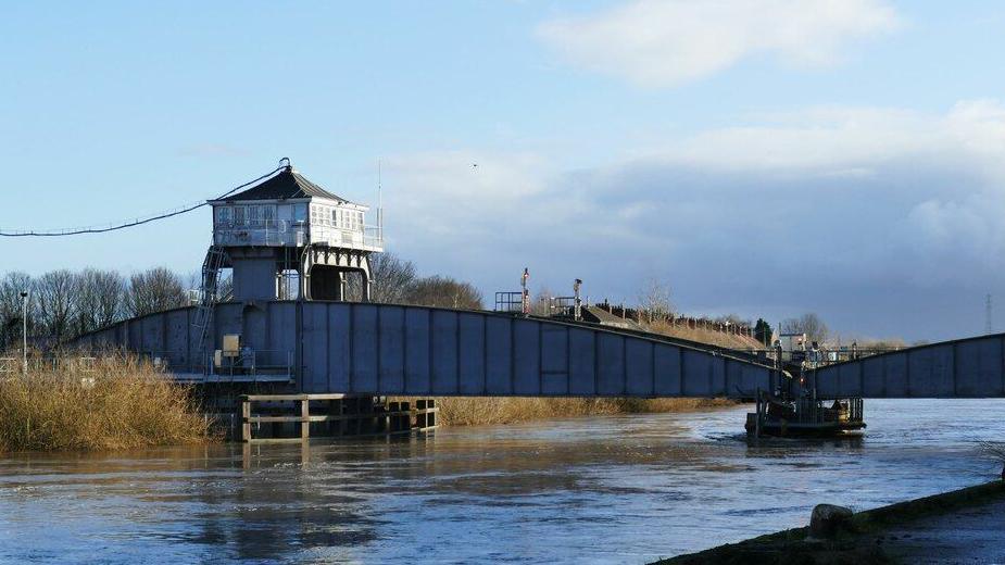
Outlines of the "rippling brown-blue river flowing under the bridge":
[{"label": "rippling brown-blue river flowing under the bridge", "polygon": [[1000,400],[867,400],[863,438],[749,406],[427,437],[0,459],[0,561],[645,563],[990,480]]}]

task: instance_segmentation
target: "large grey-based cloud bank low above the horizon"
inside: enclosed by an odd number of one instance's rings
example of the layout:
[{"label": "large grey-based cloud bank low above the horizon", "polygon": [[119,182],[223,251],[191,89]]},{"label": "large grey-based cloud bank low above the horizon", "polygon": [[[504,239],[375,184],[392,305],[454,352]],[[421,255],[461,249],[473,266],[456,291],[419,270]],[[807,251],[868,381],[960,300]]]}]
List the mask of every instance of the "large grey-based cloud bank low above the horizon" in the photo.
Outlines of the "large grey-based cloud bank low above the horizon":
[{"label": "large grey-based cloud bank low above the horizon", "polygon": [[[573,172],[526,153],[392,158],[388,233],[409,237],[391,248],[487,291],[524,266],[553,289],[583,278],[600,299],[630,300],[656,276],[691,311],[776,303],[908,338],[965,332],[954,301],[1005,285],[1001,102],[746,122]],[[925,325],[937,302],[941,335]]]}]

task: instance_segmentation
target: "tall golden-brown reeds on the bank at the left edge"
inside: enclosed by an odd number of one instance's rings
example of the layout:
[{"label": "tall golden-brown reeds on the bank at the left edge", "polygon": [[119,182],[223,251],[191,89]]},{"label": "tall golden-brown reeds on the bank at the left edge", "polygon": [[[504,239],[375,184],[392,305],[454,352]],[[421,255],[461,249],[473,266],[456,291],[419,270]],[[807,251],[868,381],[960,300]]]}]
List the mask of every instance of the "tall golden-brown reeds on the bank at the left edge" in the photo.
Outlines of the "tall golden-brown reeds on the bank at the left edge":
[{"label": "tall golden-brown reeds on the bank at the left edge", "polygon": [[0,452],[114,450],[204,441],[209,426],[190,390],[131,357],[91,369],[0,377]]}]

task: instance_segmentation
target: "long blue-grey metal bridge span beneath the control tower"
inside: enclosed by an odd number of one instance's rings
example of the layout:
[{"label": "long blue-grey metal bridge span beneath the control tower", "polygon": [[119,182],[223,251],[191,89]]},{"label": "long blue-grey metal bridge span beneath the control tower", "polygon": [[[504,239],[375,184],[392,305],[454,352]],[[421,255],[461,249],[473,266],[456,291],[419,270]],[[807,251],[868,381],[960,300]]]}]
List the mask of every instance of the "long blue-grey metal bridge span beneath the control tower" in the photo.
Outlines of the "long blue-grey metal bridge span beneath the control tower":
[{"label": "long blue-grey metal bridge span beneath the control tower", "polygon": [[736,397],[770,390],[768,360],[656,335],[519,315],[392,304],[216,304],[200,353],[193,307],[129,319],[76,346],[149,355],[178,378],[285,382],[306,393],[375,395]]}]

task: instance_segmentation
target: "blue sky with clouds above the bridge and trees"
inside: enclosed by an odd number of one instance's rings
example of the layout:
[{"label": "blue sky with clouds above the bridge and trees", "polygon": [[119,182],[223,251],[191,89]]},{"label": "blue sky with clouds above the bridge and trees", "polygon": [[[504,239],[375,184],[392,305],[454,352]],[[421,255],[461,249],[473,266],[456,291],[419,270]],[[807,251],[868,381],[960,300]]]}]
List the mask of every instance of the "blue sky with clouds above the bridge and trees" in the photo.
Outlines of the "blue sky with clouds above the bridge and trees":
[{"label": "blue sky with clouds above the bridge and trees", "polygon": [[[198,202],[288,156],[422,274],[844,339],[1005,304],[1005,5],[882,0],[23,2],[0,229]],[[478,166],[473,166],[477,164]],[[0,238],[0,272],[199,268],[209,211]],[[995,329],[1005,307],[995,306]]]}]

